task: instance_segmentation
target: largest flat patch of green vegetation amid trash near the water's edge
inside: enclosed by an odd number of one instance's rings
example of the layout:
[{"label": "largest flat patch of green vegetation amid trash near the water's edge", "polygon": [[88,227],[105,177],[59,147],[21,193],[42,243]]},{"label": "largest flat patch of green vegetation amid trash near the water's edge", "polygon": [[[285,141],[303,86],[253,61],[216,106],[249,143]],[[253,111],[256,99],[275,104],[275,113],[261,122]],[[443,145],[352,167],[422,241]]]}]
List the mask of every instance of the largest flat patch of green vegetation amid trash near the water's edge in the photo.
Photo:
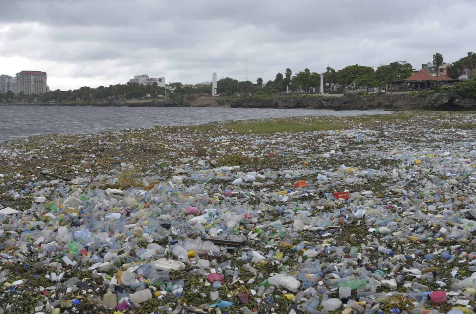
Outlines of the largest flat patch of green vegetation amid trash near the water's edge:
[{"label": "largest flat patch of green vegetation amid trash near the water's edge", "polygon": [[326,131],[326,130],[342,130],[348,128],[349,125],[343,122],[323,122],[313,120],[309,122],[301,122],[291,119],[276,119],[263,122],[238,122],[227,124],[229,131],[250,134],[250,133],[297,133],[310,131]]}]

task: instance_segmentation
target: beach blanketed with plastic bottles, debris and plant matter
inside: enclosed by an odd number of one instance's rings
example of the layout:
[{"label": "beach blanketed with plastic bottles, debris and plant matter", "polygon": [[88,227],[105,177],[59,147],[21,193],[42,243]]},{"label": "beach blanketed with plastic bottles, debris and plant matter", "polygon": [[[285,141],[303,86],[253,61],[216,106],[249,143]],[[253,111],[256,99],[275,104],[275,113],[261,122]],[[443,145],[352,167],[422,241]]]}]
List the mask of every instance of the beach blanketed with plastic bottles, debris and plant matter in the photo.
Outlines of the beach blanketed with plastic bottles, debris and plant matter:
[{"label": "beach blanketed with plastic bottles, debris and plant matter", "polygon": [[475,187],[468,112],[0,143],[0,314],[474,313]]}]

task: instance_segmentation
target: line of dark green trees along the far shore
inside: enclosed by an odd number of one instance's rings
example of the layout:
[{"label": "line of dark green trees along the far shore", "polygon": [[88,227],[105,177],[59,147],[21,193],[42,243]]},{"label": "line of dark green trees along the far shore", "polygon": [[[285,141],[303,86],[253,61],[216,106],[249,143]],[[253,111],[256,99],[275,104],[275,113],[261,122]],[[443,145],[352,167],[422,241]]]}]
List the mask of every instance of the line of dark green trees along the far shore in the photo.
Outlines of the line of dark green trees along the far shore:
[{"label": "line of dark green trees along the far shore", "polygon": [[[433,55],[433,63],[436,68],[443,64],[443,56],[440,53]],[[451,75],[458,78],[461,75],[463,67],[468,67],[470,70],[476,68],[476,54],[468,52],[467,56],[460,60],[453,62],[451,67]],[[393,62],[389,65],[379,66],[375,71],[372,67],[361,65],[349,65],[339,71],[331,67],[327,67],[324,75],[324,82],[329,83],[324,87],[324,92],[336,91],[340,86],[343,89],[357,89],[357,88],[373,88],[382,87],[385,84],[395,81],[401,81],[412,75],[413,67],[410,63],[401,64]],[[284,74],[283,74],[284,73]],[[251,81],[238,81],[236,79],[225,77],[217,81],[218,92],[225,95],[238,95],[247,93],[311,93],[317,92],[320,86],[320,73],[311,72],[308,68],[293,74],[290,68],[281,73],[278,72],[274,80],[269,80],[264,84],[261,77],[256,80],[256,83]],[[173,94],[192,94],[202,93],[211,94],[211,83],[204,85],[184,85],[181,82],[172,82],[167,85],[173,91],[167,93]],[[11,91],[6,94],[0,92],[0,99],[18,99],[32,101],[37,99],[40,102],[48,101],[97,101],[97,100],[118,100],[118,99],[141,99],[144,97],[158,98],[164,96],[166,93],[163,87],[159,87],[156,82],[152,85],[143,85],[138,83],[116,84],[108,87],[99,86],[91,88],[83,86],[79,89],[61,91],[57,89],[44,94],[23,95],[20,92],[14,95]]]}]

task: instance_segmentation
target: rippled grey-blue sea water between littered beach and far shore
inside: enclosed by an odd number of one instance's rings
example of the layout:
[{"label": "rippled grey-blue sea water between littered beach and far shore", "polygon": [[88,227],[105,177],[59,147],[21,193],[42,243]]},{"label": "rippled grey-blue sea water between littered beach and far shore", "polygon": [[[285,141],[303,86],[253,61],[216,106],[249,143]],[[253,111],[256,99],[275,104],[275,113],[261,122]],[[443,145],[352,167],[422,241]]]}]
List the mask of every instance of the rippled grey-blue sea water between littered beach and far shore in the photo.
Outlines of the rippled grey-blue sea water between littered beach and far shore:
[{"label": "rippled grey-blue sea water between littered beach and far shore", "polygon": [[302,115],[354,116],[384,110],[137,108],[69,106],[0,106],[0,142],[24,136],[83,134],[155,125],[190,125],[213,121],[280,118]]}]

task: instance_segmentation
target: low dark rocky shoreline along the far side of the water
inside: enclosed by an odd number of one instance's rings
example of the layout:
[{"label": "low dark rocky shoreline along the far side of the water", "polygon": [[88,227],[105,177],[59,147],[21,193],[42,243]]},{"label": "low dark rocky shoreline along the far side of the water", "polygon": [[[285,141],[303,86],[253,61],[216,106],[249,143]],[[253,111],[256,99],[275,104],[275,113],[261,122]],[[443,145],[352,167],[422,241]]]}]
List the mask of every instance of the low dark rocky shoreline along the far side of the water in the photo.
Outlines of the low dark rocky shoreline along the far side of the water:
[{"label": "low dark rocky shoreline along the far side of the water", "polygon": [[430,94],[412,96],[409,94],[384,94],[343,97],[313,95],[279,95],[253,97],[198,97],[188,95],[169,101],[129,101],[129,102],[84,102],[84,103],[41,103],[41,104],[0,104],[0,105],[41,105],[41,106],[94,106],[94,107],[216,107],[271,108],[271,109],[332,109],[332,110],[476,110],[476,100],[460,97],[458,94]]}]

